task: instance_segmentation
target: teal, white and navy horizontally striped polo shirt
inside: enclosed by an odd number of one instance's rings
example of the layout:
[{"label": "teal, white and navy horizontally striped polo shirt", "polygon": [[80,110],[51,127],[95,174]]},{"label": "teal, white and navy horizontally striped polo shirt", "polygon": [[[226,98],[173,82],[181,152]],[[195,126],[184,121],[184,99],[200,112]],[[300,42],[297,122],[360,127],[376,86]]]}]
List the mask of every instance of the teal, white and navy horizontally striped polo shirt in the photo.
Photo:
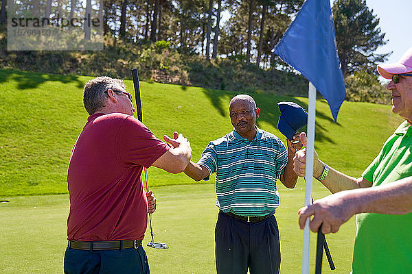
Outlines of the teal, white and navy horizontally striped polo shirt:
[{"label": "teal, white and navy horizontally striped polo shirt", "polygon": [[209,142],[198,164],[216,172],[216,206],[242,216],[264,216],[279,206],[276,180],[288,152],[275,135],[258,129],[252,141],[233,132]]}]

